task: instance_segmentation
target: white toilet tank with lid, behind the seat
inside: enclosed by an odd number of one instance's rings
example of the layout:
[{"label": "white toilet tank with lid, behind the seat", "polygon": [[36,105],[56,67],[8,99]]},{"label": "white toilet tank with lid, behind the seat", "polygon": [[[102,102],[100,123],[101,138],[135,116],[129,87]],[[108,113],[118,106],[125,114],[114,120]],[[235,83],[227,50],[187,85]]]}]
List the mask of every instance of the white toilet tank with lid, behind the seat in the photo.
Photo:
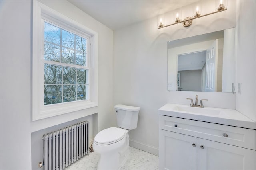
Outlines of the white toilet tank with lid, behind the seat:
[{"label": "white toilet tank with lid, behind the seat", "polygon": [[140,107],[118,104],[114,108],[118,127],[128,130],[137,128]]}]

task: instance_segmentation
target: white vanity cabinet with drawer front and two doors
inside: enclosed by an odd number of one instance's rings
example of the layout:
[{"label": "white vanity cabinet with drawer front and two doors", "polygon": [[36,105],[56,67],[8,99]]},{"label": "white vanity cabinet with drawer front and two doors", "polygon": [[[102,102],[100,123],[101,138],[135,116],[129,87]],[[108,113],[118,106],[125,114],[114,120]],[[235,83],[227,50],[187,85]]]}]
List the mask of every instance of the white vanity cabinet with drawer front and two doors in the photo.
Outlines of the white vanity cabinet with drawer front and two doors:
[{"label": "white vanity cabinet with drawer front and two doors", "polygon": [[255,170],[256,130],[159,115],[160,170]]}]

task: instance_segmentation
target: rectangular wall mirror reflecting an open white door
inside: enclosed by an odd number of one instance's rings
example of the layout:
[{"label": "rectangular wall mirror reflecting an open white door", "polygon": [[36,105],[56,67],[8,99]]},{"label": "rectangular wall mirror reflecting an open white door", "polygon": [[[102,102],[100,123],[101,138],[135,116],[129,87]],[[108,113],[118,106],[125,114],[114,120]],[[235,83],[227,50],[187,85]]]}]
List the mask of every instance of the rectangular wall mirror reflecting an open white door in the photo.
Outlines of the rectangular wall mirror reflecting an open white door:
[{"label": "rectangular wall mirror reflecting an open white door", "polygon": [[235,92],[236,28],[168,41],[168,91]]}]

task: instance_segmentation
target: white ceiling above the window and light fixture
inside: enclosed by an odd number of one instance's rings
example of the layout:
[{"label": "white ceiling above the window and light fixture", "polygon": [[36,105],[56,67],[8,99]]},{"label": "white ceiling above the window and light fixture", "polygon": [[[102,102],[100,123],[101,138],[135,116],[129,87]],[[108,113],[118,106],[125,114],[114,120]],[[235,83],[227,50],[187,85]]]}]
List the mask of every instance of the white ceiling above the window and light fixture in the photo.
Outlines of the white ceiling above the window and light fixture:
[{"label": "white ceiling above the window and light fixture", "polygon": [[69,0],[112,30],[133,25],[198,0]]}]

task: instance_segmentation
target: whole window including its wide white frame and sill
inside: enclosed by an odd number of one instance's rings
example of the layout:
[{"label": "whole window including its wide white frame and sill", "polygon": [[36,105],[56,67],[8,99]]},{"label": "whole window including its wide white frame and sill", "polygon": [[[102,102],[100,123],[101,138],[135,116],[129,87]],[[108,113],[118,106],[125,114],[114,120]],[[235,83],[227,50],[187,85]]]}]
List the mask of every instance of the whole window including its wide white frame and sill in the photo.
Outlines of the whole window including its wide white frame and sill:
[{"label": "whole window including its wide white frame and sill", "polygon": [[97,106],[97,33],[40,2],[33,10],[33,120]]}]

